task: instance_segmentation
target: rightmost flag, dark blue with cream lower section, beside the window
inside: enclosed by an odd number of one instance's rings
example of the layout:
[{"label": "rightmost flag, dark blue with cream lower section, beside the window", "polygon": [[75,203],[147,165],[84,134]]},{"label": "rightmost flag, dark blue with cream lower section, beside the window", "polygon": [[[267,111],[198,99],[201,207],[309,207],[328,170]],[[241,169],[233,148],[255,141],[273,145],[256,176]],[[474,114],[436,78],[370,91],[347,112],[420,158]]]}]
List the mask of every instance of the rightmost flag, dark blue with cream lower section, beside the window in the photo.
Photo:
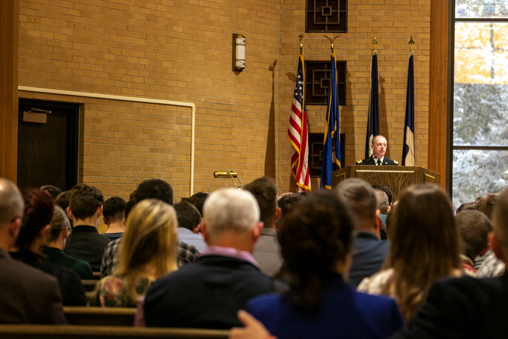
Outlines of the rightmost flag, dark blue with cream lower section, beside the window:
[{"label": "rightmost flag, dark blue with cream lower section, beside the window", "polygon": [[402,166],[415,166],[415,66],[412,52],[409,54],[409,66],[407,68],[406,118],[404,124]]}]

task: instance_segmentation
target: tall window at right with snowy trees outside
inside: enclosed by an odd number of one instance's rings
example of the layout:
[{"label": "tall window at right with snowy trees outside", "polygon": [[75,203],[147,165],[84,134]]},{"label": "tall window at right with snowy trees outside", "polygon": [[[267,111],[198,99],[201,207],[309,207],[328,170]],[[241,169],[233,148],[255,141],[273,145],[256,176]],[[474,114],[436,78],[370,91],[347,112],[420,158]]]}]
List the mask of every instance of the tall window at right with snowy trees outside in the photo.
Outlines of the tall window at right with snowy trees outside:
[{"label": "tall window at right with snowy trees outside", "polygon": [[508,2],[455,0],[455,207],[508,185]]}]

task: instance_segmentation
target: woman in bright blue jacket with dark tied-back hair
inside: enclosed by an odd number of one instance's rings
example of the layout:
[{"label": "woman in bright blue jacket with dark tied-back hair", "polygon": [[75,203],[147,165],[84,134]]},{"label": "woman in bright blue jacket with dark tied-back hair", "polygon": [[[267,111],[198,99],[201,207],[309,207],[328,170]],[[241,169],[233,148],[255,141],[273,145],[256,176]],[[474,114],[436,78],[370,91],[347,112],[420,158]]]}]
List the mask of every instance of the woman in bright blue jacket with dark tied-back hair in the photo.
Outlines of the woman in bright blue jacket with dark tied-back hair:
[{"label": "woman in bright blue jacket with dark tied-back hair", "polygon": [[395,301],[347,285],[354,224],[332,193],[317,193],[279,223],[291,291],[249,300],[247,311],[279,338],[379,338],[402,328]]}]

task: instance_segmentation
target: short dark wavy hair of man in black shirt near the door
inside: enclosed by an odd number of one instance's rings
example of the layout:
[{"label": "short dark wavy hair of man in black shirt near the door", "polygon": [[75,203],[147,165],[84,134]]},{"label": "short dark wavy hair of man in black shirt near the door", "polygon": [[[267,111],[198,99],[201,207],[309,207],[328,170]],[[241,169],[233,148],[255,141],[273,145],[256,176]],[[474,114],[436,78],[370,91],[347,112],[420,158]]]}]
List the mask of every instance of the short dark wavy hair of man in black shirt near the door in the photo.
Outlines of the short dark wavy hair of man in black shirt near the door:
[{"label": "short dark wavy hair of man in black shirt near the door", "polygon": [[101,191],[86,183],[74,186],[71,190],[69,207],[76,219],[86,219],[97,212],[97,208],[104,204],[104,196]]}]

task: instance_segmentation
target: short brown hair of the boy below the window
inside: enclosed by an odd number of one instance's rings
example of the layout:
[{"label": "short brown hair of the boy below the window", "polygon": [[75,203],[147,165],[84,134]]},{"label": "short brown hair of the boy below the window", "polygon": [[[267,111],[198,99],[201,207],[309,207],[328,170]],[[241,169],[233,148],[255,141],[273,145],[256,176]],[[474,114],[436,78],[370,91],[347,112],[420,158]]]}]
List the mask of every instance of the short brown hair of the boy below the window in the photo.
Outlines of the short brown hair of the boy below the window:
[{"label": "short brown hair of the boy below the window", "polygon": [[483,212],[466,210],[455,215],[455,222],[463,240],[464,254],[474,261],[487,247],[492,223]]}]

